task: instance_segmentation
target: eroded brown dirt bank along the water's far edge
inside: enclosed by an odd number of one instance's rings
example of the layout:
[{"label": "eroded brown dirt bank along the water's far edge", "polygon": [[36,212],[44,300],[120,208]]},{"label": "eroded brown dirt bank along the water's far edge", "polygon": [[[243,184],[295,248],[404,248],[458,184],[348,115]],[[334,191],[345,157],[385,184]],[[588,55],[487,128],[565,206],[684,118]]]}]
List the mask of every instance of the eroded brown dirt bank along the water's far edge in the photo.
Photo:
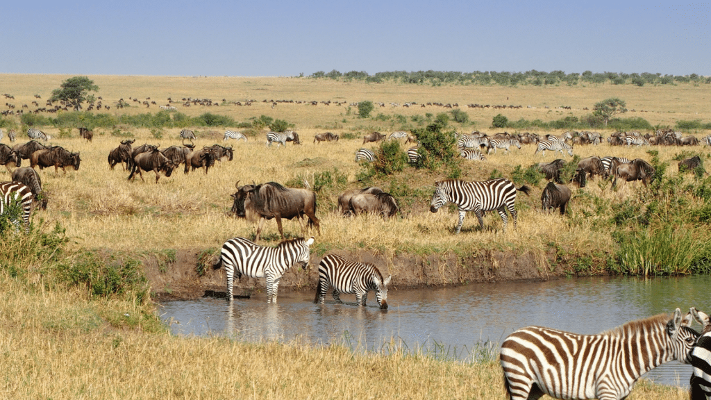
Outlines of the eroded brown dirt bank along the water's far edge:
[{"label": "eroded brown dirt bank along the water's far edge", "polygon": [[[360,260],[378,266],[383,275],[392,275],[390,290],[405,288],[442,287],[468,283],[550,280],[570,274],[555,252],[545,256],[535,253],[491,251],[461,258],[454,254],[429,256],[375,254],[369,251],[352,253],[332,251],[351,260]],[[315,290],[321,256],[311,256],[306,270],[289,268],[284,274],[279,291]],[[146,277],[151,285],[154,300],[188,300],[200,298],[208,290],[225,291],[225,271],[214,270],[215,256],[204,256],[199,249],[176,251],[174,260],[164,261],[154,256],[144,256]],[[555,265],[555,268],[551,268]],[[554,272],[555,270],[555,272]],[[201,272],[198,272],[201,271]],[[235,295],[263,292],[264,279],[242,277],[235,282]]]}]

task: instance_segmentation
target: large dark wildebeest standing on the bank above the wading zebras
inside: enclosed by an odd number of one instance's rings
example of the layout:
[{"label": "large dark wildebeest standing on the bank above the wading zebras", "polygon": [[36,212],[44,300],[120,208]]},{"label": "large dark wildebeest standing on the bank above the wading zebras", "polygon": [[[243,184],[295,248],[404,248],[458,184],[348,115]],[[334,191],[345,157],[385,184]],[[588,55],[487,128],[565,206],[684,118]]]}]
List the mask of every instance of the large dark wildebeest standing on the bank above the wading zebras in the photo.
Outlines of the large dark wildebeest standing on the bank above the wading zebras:
[{"label": "large dark wildebeest standing on the bank above the wading zebras", "polygon": [[[316,218],[316,194],[309,189],[292,189],[277,184],[267,182],[259,185],[238,186],[235,184],[237,193],[232,194],[235,201],[232,203],[232,213],[247,221],[257,222],[257,236],[255,241],[260,240],[262,225],[267,219],[276,219],[279,233],[284,239],[284,229],[282,228],[282,218],[296,219],[301,226],[301,232],[306,233],[306,228],[315,226],[316,231],[321,234],[319,219]],[[301,219],[304,215],[309,217],[309,224],[304,226]]]}]

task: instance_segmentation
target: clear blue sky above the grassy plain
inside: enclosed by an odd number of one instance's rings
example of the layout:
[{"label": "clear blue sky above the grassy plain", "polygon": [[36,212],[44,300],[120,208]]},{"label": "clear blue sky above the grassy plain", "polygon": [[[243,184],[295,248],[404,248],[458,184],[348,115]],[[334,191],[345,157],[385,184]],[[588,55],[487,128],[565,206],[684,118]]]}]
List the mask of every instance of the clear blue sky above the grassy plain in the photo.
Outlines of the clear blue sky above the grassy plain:
[{"label": "clear blue sky above the grassy plain", "polygon": [[710,3],[5,1],[0,73],[711,75]]}]

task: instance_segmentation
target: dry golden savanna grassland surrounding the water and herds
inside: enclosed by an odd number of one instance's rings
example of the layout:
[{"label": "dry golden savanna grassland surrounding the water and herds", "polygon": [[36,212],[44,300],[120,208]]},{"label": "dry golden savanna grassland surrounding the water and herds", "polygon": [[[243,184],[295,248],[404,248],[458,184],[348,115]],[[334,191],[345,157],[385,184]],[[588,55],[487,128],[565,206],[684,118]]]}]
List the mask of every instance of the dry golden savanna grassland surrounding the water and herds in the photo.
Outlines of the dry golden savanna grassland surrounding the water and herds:
[{"label": "dry golden savanna grassland surrounding the water and herds", "polygon": [[[40,105],[53,89],[71,75],[0,75],[0,92],[17,109],[33,101]],[[50,142],[80,152],[78,171],[55,174],[40,172],[48,192],[46,211],[33,213],[35,228],[28,236],[6,232],[0,257],[0,325],[4,335],[0,360],[4,385],[0,394],[7,398],[24,396],[46,399],[198,399],[198,398],[455,398],[503,399],[501,369],[491,357],[479,362],[432,359],[425,354],[353,354],[342,347],[312,348],[292,342],[240,343],[218,337],[204,339],[171,337],[157,320],[150,300],[150,283],[141,274],[141,256],[174,256],[179,249],[214,254],[227,238],[253,238],[255,226],[228,215],[230,194],[235,184],[277,181],[301,186],[306,179],[317,190],[321,235],[316,235],[314,260],[328,251],[378,255],[381,270],[398,275],[412,273],[410,264],[400,264],[402,255],[422,258],[441,256],[466,263],[473,256],[491,252],[533,254],[538,263],[531,268],[552,275],[609,273],[653,273],[648,265],[625,266],[621,248],[639,247],[637,240],[654,247],[681,243],[676,269],[664,274],[699,273],[709,243],[707,233],[708,177],[680,175],[676,160],[701,154],[708,148],[651,148],[599,146],[575,147],[579,157],[589,155],[643,158],[656,166],[668,165],[660,184],[651,189],[626,184],[611,190],[609,182],[589,182],[584,189],[573,188],[574,198],[566,216],[542,214],[540,194],[545,181],[525,181],[523,171],[538,162],[560,158],[560,154],[534,156],[535,148],[524,145],[509,154],[499,150],[486,162],[461,162],[461,177],[483,180],[489,177],[518,177],[532,187],[531,196],[517,198],[518,227],[502,231],[496,213],[485,217],[479,230],[476,217],[466,216],[464,228],[454,236],[456,212],[443,209],[429,212],[434,181],[444,179],[451,169],[405,167],[393,175],[368,175],[366,167],[354,162],[354,152],[362,147],[363,135],[378,130],[419,129],[437,115],[451,109],[428,102],[459,104],[466,112],[464,123],[449,120],[448,130],[502,132],[491,128],[498,114],[508,120],[559,120],[567,116],[589,115],[595,102],[617,97],[626,100],[625,117],[642,117],[654,127],[674,127],[678,121],[711,122],[709,85],[576,85],[503,87],[498,85],[406,85],[401,83],[343,82],[310,78],[236,77],[147,77],[90,76],[99,86],[109,110],[95,114],[156,114],[167,99],[176,112],[198,117],[206,112],[225,115],[235,125],[252,124],[262,115],[292,124],[301,145],[265,147],[267,127],[237,126],[136,127],[118,124],[95,127],[92,142],[77,137],[76,127],[54,125],[39,128],[53,137]],[[35,95],[40,96],[37,99]],[[134,102],[129,98],[137,98]],[[146,99],[150,98],[150,99]],[[184,105],[183,98],[210,99],[220,105]],[[119,99],[129,107],[117,108]],[[224,99],[224,101],[223,101]],[[252,100],[252,105],[235,102]],[[263,100],[267,100],[264,102]],[[283,100],[294,100],[284,102]],[[358,117],[351,102],[384,102],[371,117]],[[142,104],[148,101],[149,107]],[[156,105],[151,104],[155,101]],[[311,102],[317,105],[311,105]],[[330,105],[324,102],[330,101]],[[275,103],[275,105],[273,104]],[[336,105],[336,102],[345,102]],[[413,107],[392,106],[416,102]],[[467,104],[521,105],[521,108],[469,108]],[[420,107],[424,104],[425,107]],[[528,107],[530,106],[530,108]],[[570,107],[570,110],[559,108]],[[587,107],[587,110],[585,108]],[[3,108],[5,110],[5,108]],[[170,115],[171,112],[164,111]],[[55,117],[55,115],[49,115]],[[25,142],[26,126],[18,117],[2,117],[4,131],[14,127],[18,142]],[[223,144],[225,129],[242,130],[247,142],[230,141],[234,159],[218,163],[208,174],[201,170],[183,174],[182,167],[171,177],[144,175],[127,181],[128,172],[119,165],[109,169],[107,154],[121,140],[134,138],[134,146],[160,144],[161,148],[180,144],[178,132],[188,127],[196,132],[196,145]],[[341,135],[338,142],[314,144],[322,132]],[[560,133],[530,129],[540,135]],[[604,137],[611,130],[600,130]],[[511,132],[509,130],[509,132]],[[644,132],[646,133],[646,132]],[[710,132],[684,132],[702,137]],[[5,136],[2,140],[7,142]],[[377,149],[375,144],[365,147]],[[405,145],[403,144],[403,148]],[[570,157],[566,157],[570,161]],[[26,164],[23,163],[23,166]],[[518,175],[516,174],[518,167]],[[3,177],[4,176],[4,177]],[[9,180],[0,170],[0,179]],[[360,179],[360,181],[358,180]],[[336,198],[347,189],[377,185],[400,201],[402,218],[383,221],[375,216],[344,219],[336,210]],[[710,185],[711,186],[711,185]],[[653,205],[653,206],[650,206]],[[681,211],[678,211],[681,210]],[[42,222],[41,222],[42,221]],[[664,234],[665,229],[670,230]],[[285,221],[288,237],[300,236],[299,224]],[[264,243],[279,240],[274,221],[262,232]],[[663,242],[656,242],[663,241]],[[660,244],[662,243],[662,244]],[[656,246],[655,246],[656,245]],[[670,246],[682,247],[682,246]],[[96,256],[96,254],[102,256]],[[122,264],[112,264],[112,254],[122,256]],[[694,258],[690,253],[700,253]],[[107,265],[105,270],[96,265]],[[695,263],[695,264],[694,264]],[[443,264],[446,266],[446,264]],[[700,265],[700,266],[699,266]],[[479,268],[479,265],[467,265]],[[97,270],[99,268],[99,270]],[[312,263],[311,268],[314,269]],[[635,269],[636,268],[636,269]],[[99,272],[97,272],[99,271]],[[100,279],[96,280],[96,276]],[[437,280],[424,284],[459,284],[458,280]],[[152,288],[156,290],[156,288]],[[284,362],[287,360],[287,362]],[[377,377],[374,379],[374,377]],[[678,388],[641,384],[630,399],[682,399]]]}]

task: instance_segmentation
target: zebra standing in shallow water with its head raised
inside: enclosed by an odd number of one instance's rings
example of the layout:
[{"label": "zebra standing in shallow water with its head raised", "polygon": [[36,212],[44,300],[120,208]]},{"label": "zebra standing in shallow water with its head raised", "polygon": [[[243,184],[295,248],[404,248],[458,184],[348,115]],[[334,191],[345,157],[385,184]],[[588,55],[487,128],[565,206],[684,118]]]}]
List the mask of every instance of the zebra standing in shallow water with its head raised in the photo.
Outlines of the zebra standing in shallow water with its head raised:
[{"label": "zebra standing in shallow water with its head raised", "polygon": [[277,247],[258,246],[245,238],[231,238],[223,244],[220,261],[214,268],[225,266],[227,275],[228,298],[232,300],[232,284],[245,275],[249,278],[267,278],[267,302],[277,302],[279,280],[292,265],[302,268],[309,265],[309,246],[314,238],[290,239],[282,241]]}]

